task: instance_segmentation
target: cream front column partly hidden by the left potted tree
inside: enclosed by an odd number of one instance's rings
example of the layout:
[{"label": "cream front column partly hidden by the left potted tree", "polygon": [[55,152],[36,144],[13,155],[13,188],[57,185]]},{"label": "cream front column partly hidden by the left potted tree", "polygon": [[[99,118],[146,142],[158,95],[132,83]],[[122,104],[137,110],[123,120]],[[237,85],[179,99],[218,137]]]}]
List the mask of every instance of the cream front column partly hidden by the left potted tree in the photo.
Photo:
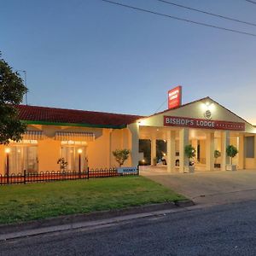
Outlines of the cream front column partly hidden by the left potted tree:
[{"label": "cream front column partly hidden by the left potted tree", "polygon": [[184,154],[184,148],[189,145],[189,129],[183,128],[179,131],[179,172],[189,169],[189,159]]}]

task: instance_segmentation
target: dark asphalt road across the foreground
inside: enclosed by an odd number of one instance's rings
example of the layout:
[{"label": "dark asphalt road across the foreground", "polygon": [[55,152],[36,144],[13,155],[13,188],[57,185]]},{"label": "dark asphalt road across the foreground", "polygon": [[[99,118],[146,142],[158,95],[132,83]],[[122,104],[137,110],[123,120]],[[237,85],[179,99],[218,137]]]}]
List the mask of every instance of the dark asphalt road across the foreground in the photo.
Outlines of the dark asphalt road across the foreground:
[{"label": "dark asphalt road across the foreground", "polygon": [[256,201],[0,242],[0,255],[255,255]]}]

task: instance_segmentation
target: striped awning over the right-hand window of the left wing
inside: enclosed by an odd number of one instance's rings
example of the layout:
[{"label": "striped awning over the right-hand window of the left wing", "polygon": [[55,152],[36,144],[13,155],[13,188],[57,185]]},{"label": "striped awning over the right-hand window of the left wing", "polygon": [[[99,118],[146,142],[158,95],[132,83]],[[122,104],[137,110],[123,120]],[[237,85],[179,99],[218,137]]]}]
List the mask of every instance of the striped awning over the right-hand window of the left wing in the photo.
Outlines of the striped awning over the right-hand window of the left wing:
[{"label": "striped awning over the right-hand window of the left wing", "polygon": [[70,131],[56,131],[55,140],[58,141],[80,141],[93,142],[95,134],[93,132],[70,132]]}]

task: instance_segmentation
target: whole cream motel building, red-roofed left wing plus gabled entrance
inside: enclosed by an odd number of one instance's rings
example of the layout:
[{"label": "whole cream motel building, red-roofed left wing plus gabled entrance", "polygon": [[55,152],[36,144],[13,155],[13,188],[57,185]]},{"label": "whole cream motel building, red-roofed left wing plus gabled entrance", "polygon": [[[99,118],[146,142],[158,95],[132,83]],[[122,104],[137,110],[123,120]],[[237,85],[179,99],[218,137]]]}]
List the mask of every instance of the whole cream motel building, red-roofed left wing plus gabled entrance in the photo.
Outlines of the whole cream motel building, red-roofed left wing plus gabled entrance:
[{"label": "whole cream motel building, red-roofed left wing plus gabled entrance", "polygon": [[[169,106],[170,107],[170,106]],[[60,171],[64,158],[67,171],[118,166],[113,150],[129,148],[125,166],[137,166],[143,160],[139,141],[150,140],[151,163],[156,157],[157,140],[166,143],[166,172],[185,172],[189,160],[184,147],[196,149],[195,172],[225,171],[230,159],[226,147],[234,145],[239,153],[233,159],[238,169],[256,169],[256,128],[224,108],[210,97],[188,104],[177,104],[147,117],[119,113],[99,113],[62,108],[20,105],[20,119],[27,131],[19,143],[0,145],[0,174]],[[177,165],[177,160],[179,165]]]}]

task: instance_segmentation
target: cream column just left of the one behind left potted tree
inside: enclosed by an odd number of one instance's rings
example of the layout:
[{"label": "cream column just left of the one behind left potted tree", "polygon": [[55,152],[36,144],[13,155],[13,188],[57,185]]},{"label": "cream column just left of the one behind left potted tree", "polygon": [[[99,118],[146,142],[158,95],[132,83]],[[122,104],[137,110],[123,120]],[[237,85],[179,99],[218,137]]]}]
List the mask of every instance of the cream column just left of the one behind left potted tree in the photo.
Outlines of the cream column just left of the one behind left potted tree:
[{"label": "cream column just left of the one behind left potted tree", "polygon": [[175,172],[175,131],[167,131],[167,172]]}]

